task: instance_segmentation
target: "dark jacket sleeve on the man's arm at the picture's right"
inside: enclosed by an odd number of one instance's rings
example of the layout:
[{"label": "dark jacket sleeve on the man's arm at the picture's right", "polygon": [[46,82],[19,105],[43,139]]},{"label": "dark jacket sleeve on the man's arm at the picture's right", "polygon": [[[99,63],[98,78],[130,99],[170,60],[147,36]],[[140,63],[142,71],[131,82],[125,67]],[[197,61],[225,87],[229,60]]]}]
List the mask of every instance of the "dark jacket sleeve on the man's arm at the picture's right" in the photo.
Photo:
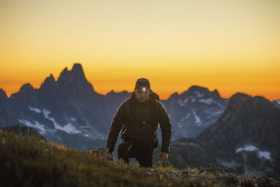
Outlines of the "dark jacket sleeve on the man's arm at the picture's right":
[{"label": "dark jacket sleeve on the man's arm at the picture's right", "polygon": [[170,144],[172,137],[172,125],[167,115],[165,106],[160,103],[160,130],[162,131],[162,152],[170,152]]}]

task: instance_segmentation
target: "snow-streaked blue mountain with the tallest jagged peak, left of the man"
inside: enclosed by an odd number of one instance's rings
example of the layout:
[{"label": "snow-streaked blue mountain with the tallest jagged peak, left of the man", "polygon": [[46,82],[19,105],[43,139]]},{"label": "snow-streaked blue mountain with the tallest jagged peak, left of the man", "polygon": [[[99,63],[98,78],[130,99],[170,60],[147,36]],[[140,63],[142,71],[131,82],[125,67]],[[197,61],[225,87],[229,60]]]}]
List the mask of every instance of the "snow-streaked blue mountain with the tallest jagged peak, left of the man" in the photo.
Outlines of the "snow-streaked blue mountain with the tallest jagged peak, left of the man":
[{"label": "snow-streaked blue mountain with the tallest jagged peak, left of the man", "polygon": [[39,89],[27,83],[10,98],[5,95],[0,92],[6,100],[0,127],[20,123],[36,128],[50,141],[70,141],[78,148],[104,146],[113,114],[130,97],[128,92],[97,94],[80,64],[73,64],[70,71],[65,68],[57,81],[50,74]]}]

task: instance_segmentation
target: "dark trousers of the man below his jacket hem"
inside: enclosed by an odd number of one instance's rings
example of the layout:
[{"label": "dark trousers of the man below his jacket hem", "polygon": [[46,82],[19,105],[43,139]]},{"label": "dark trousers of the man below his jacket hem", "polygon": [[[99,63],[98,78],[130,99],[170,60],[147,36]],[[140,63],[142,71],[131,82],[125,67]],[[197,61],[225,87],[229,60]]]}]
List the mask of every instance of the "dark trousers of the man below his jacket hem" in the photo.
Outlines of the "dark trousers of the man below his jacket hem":
[{"label": "dark trousers of the man below his jacket hem", "polygon": [[143,167],[153,167],[153,148],[134,141],[121,141],[118,144],[118,159],[129,163],[129,158],[136,158]]}]

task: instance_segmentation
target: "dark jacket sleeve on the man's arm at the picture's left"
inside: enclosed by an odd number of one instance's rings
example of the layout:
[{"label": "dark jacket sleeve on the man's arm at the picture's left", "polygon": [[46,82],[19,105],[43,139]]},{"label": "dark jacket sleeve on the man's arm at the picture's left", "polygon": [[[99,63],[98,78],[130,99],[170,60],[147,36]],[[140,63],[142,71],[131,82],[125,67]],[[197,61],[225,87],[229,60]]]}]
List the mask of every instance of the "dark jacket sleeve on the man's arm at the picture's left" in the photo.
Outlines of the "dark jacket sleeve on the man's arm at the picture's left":
[{"label": "dark jacket sleeve on the man's arm at the picture's left", "polygon": [[118,107],[118,110],[116,111],[115,116],[113,116],[110,130],[107,135],[106,148],[109,148],[110,152],[113,152],[116,141],[118,139],[118,134],[120,133],[120,130],[122,129],[123,124],[124,124],[123,108],[124,108],[124,104],[121,104]]}]

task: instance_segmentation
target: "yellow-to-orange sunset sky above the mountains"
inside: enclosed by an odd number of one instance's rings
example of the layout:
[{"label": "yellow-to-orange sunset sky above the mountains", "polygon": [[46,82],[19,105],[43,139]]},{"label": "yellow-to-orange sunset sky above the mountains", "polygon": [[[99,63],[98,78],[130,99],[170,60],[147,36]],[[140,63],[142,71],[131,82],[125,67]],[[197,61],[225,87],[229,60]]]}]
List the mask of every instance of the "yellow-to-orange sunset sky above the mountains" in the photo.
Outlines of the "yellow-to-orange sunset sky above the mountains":
[{"label": "yellow-to-orange sunset sky above the mountains", "polygon": [[83,65],[94,90],[191,85],[280,99],[280,1],[0,1],[0,88]]}]

